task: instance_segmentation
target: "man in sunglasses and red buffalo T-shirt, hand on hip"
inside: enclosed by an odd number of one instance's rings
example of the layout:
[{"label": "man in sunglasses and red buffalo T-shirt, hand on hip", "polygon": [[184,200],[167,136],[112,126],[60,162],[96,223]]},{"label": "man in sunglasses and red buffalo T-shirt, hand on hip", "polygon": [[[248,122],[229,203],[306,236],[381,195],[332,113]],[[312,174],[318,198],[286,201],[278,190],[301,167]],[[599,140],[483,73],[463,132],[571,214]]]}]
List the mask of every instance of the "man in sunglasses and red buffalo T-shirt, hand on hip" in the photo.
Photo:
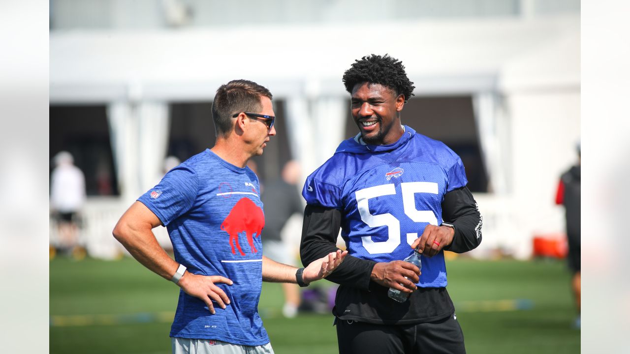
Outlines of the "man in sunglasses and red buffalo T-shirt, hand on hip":
[{"label": "man in sunglasses and red buffalo T-shirt, hand on hip", "polygon": [[[306,268],[262,255],[260,186],[246,164],[275,135],[272,94],[252,81],[230,81],[217,90],[212,118],[212,149],[171,169],[122,215],[113,235],[181,288],[173,353],[273,353],[258,314],[262,282],[307,285],[335,270],[345,253],[333,251]],[[151,231],[160,225],[175,260]]]}]

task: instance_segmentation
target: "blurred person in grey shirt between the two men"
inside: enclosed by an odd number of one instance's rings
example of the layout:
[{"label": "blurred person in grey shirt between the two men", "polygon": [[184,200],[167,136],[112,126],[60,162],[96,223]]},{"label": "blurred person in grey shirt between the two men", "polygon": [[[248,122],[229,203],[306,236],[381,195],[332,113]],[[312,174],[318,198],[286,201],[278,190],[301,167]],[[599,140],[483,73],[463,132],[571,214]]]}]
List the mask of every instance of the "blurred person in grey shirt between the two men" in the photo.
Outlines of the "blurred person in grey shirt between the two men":
[{"label": "blurred person in grey shirt between the two men", "polygon": [[[287,162],[282,168],[282,178],[265,186],[262,192],[265,205],[265,237],[263,238],[263,254],[287,265],[295,263],[294,253],[289,244],[282,240],[280,232],[293,214],[302,214],[302,202],[297,190],[300,178],[300,166],[295,161]],[[282,314],[293,318],[300,305],[300,292],[297,284],[282,283],[284,306]]]}]

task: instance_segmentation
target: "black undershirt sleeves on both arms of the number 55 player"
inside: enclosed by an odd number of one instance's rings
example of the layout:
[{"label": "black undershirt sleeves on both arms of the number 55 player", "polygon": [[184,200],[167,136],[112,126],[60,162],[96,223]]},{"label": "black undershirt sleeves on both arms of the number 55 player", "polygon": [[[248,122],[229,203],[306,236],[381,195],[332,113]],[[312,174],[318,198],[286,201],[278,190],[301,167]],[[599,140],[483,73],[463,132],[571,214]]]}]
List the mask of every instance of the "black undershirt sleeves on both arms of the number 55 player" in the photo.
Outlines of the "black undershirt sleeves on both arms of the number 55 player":
[{"label": "black undershirt sleeves on both arms of the number 55 player", "polygon": [[[481,243],[481,215],[472,193],[458,188],[444,195],[442,219],[455,226],[452,243],[445,247],[455,253],[464,253]],[[341,212],[335,208],[306,205],[300,256],[305,266],[318,258],[334,252],[341,226]],[[338,284],[369,290],[370,273],[375,261],[346,256],[341,265],[326,279]]]}]

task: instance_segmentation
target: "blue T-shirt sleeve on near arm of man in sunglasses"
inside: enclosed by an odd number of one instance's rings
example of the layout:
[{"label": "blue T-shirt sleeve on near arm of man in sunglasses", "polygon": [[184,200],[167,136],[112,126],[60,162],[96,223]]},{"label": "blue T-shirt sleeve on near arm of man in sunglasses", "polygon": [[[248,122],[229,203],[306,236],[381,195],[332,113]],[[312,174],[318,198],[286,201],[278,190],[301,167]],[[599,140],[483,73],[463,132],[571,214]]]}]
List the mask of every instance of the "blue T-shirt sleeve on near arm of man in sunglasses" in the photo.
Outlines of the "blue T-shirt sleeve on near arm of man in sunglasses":
[{"label": "blue T-shirt sleeve on near arm of man in sunglasses", "polygon": [[138,198],[167,226],[190,210],[197,198],[199,180],[193,169],[180,164]]}]

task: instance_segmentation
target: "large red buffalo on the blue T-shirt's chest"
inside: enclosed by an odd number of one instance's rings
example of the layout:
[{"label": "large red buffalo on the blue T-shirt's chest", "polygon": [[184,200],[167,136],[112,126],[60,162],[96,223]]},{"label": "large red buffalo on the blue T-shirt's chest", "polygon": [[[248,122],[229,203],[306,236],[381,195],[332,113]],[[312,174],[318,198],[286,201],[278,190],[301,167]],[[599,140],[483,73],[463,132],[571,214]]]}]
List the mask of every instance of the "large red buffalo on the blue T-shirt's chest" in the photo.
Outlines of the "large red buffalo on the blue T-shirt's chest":
[{"label": "large red buffalo on the blue T-shirt's chest", "polygon": [[244,256],[241,245],[238,243],[238,234],[245,232],[247,235],[247,241],[252,253],[257,253],[258,249],[254,246],[254,234],[256,237],[260,237],[260,232],[265,227],[265,215],[263,210],[258,207],[249,198],[241,198],[236,205],[230,210],[230,214],[221,224],[221,230],[227,232],[230,235],[230,246],[232,246],[232,253],[236,254],[234,245],[238,248],[241,256]]}]

